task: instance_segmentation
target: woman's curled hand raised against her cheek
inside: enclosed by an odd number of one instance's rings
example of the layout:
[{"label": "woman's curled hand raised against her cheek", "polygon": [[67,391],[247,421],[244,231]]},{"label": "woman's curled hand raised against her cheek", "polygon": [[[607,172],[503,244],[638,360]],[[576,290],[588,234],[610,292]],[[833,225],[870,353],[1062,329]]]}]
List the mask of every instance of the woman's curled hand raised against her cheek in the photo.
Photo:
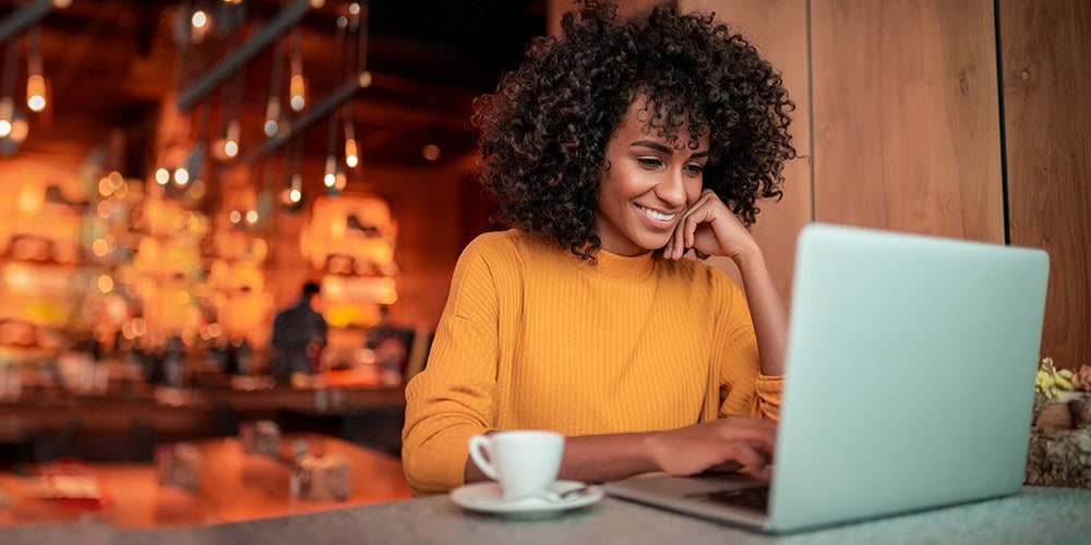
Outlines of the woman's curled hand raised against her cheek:
[{"label": "woman's curled hand raised against her cheek", "polygon": [[757,242],[742,221],[712,190],[704,190],[682,214],[663,257],[681,259],[686,250],[694,249],[703,254],[726,255],[738,263],[756,247]]}]

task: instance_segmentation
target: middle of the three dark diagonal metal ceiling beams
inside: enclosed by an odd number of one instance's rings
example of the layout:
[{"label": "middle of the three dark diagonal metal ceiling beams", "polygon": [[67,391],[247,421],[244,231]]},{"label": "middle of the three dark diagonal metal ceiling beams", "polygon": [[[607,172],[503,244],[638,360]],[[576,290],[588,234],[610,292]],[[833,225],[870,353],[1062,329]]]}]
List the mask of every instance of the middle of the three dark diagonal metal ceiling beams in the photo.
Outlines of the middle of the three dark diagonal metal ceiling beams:
[{"label": "middle of the three dark diagonal metal ceiling beams", "polygon": [[201,78],[190,84],[178,94],[178,110],[187,111],[204,98],[205,95],[215,89],[225,80],[230,77],[239,69],[247,65],[251,59],[269,47],[292,26],[299,24],[307,12],[313,8],[321,8],[325,0],[296,0],[290,5],[285,7],[265,26],[254,34],[247,43],[231,51],[221,59],[215,66],[206,72]]}]

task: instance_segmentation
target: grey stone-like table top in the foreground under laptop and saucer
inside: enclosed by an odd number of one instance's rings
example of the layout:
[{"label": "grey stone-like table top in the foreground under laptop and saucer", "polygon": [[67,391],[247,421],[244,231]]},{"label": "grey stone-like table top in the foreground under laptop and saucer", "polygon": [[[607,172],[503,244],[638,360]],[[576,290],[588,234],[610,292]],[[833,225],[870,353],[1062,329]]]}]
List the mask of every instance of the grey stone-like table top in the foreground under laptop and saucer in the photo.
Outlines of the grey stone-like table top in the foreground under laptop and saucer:
[{"label": "grey stone-like table top in the foreground under laptop and saucer", "polygon": [[116,531],[101,523],[0,529],[4,544],[161,543],[448,544],[1026,544],[1091,543],[1091,491],[1023,487],[1019,494],[933,511],[769,536],[606,497],[556,518],[470,513],[447,496],[230,524]]}]

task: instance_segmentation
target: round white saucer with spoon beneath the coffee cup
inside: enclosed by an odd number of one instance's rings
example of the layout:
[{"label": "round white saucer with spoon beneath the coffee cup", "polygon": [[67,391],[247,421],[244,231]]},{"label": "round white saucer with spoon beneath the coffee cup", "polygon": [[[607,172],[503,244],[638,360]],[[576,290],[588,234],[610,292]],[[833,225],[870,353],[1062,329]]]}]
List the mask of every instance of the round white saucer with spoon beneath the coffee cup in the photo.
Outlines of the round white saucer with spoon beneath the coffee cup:
[{"label": "round white saucer with spoon beneath the coffee cup", "polygon": [[[564,494],[579,488],[584,483],[576,481],[558,481],[552,491]],[[590,486],[580,496],[562,501],[546,498],[525,498],[505,501],[501,498],[500,485],[496,483],[472,483],[451,491],[451,500],[464,509],[499,514],[509,519],[547,519],[556,517],[564,511],[587,507],[602,499],[601,486]]]}]

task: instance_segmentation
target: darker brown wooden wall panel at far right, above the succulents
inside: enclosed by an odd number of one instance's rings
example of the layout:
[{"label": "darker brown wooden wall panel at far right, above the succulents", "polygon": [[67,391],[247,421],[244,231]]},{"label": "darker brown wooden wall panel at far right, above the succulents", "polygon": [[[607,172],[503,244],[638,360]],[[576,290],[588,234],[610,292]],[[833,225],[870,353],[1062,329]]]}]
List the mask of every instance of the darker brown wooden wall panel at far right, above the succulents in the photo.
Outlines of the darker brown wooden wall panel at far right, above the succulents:
[{"label": "darker brown wooden wall panel at far right, above the succulents", "polygon": [[1050,253],[1042,354],[1091,364],[1091,2],[998,5],[1010,240]]}]

